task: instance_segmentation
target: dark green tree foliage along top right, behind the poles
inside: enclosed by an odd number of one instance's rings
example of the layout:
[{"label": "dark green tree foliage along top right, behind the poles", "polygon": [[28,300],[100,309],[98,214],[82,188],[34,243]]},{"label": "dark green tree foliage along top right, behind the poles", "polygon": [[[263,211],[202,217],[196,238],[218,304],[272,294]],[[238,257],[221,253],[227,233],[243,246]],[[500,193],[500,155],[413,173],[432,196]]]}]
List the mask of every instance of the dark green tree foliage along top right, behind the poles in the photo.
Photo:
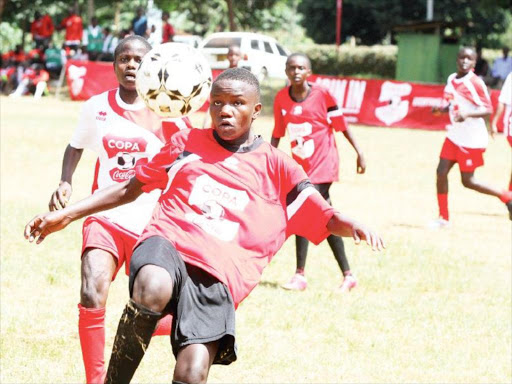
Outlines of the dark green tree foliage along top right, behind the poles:
[{"label": "dark green tree foliage along top right, behind the poles", "polygon": [[[499,45],[500,35],[510,15],[507,0],[436,0],[434,19],[466,25],[463,42],[482,41],[485,46]],[[379,43],[394,26],[425,20],[425,1],[344,0],[342,39],[357,37],[362,44]],[[336,2],[302,0],[299,12],[303,26],[315,42],[335,41]]]}]

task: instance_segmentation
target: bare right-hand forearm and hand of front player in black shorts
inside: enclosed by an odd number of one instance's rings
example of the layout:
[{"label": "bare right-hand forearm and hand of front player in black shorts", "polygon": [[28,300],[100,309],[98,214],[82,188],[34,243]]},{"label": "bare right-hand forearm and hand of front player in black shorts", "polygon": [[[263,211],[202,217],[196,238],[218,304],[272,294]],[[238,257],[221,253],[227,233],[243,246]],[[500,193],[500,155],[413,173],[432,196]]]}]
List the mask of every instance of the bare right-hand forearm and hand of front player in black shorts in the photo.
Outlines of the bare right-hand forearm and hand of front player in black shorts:
[{"label": "bare right-hand forearm and hand of front player in black shorts", "polygon": [[385,248],[384,241],[376,232],[339,212],[335,212],[331,217],[327,223],[327,229],[333,235],[352,237],[356,244],[364,240],[374,251],[381,251]]}]

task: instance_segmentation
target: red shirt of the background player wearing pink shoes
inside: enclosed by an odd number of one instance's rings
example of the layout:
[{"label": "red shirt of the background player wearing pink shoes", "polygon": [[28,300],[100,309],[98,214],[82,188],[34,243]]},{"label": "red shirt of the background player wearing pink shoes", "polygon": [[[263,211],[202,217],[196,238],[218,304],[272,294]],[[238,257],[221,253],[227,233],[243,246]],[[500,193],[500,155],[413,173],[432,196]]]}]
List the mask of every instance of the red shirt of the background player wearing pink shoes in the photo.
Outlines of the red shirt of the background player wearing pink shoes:
[{"label": "red shirt of the background player wearing pink shoes", "polygon": [[345,131],[347,124],[336,100],[326,88],[310,84],[303,101],[294,101],[290,87],[281,89],[274,101],[273,137],[288,132],[292,156],[314,184],[338,180],[339,156],[334,131]]}]

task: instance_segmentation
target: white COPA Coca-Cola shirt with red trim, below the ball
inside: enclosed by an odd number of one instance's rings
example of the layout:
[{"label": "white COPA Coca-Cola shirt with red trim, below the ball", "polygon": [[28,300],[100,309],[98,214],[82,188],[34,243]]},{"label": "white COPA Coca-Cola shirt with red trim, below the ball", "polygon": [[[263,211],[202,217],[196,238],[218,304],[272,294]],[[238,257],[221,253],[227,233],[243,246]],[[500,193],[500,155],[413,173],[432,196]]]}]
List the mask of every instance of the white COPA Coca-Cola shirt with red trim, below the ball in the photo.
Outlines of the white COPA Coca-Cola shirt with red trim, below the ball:
[{"label": "white COPA Coca-Cola shirt with red trim, below the ball", "polygon": [[[135,166],[146,164],[180,129],[190,128],[188,119],[167,119],[140,102],[126,104],[118,89],[91,97],[82,113],[70,145],[98,154],[93,192],[123,182],[135,175]],[[132,203],[97,214],[139,235],[151,217],[159,192],[142,194]]]}]

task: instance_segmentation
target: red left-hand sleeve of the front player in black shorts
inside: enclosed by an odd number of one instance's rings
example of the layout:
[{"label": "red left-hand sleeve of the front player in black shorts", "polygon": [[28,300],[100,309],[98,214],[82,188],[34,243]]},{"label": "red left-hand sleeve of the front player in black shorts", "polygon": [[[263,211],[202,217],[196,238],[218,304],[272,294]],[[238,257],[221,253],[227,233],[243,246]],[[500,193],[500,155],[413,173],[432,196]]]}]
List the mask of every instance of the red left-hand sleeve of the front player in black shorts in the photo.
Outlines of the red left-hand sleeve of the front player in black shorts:
[{"label": "red left-hand sleeve of the front player in black shorts", "polygon": [[154,189],[165,190],[169,182],[167,172],[172,163],[183,153],[184,148],[182,135],[175,135],[149,163],[135,167],[135,177],[144,184],[142,187],[144,192],[151,192]]}]

